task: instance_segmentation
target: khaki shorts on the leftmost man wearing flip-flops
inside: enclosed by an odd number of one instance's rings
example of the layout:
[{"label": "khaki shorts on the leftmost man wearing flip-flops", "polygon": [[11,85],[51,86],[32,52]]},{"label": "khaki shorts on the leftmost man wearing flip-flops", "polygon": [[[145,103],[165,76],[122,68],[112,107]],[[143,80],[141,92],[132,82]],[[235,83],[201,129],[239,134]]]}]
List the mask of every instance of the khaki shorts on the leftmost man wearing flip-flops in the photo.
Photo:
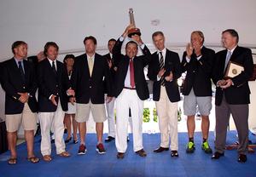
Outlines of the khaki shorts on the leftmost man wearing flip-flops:
[{"label": "khaki shorts on the leftmost man wearing flip-flops", "polygon": [[24,130],[34,130],[37,127],[37,114],[32,112],[27,103],[20,114],[5,115],[5,124],[8,132],[18,131],[20,123]]}]

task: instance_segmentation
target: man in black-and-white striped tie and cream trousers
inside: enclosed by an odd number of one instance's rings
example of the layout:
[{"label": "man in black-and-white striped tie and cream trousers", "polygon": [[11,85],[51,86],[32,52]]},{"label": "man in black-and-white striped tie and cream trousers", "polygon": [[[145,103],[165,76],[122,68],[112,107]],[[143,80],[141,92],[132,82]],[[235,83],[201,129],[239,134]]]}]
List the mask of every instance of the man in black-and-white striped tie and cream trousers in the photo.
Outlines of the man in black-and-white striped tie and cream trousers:
[{"label": "man in black-and-white striped tie and cream trousers", "polygon": [[177,102],[180,94],[177,78],[181,76],[180,60],[177,53],[166,49],[162,31],[155,31],[152,40],[157,51],[152,54],[148,65],[148,78],[154,81],[153,100],[159,117],[161,138],[160,147],[154,152],[168,151],[170,146],[171,157],[178,157]]}]

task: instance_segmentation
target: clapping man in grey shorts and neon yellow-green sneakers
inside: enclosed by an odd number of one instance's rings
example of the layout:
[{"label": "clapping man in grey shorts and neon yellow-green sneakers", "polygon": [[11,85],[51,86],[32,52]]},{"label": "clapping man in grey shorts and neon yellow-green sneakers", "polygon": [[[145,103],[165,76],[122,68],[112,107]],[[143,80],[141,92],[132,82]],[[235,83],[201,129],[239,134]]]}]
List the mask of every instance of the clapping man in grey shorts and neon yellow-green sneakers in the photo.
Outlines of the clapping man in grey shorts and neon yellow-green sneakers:
[{"label": "clapping man in grey shorts and neon yellow-green sneakers", "polygon": [[186,152],[195,151],[194,132],[195,132],[195,113],[196,106],[201,114],[201,149],[207,154],[212,154],[212,149],[208,144],[209,134],[209,114],[212,110],[212,66],[215,52],[206,48],[204,35],[201,31],[193,31],[190,43],[183,53],[182,70],[187,71],[183,85],[183,109],[187,115],[187,127],[189,143]]}]

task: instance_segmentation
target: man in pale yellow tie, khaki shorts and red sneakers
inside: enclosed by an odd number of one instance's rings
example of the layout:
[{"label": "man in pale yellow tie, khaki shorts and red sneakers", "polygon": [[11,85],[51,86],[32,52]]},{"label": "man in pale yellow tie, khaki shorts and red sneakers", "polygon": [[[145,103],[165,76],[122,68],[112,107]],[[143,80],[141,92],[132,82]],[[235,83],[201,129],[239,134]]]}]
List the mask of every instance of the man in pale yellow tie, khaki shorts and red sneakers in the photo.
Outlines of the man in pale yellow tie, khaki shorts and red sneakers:
[{"label": "man in pale yellow tie, khaki shorts and red sneakers", "polygon": [[112,100],[111,77],[108,68],[108,61],[102,55],[96,53],[96,38],[84,38],[85,54],[76,57],[71,77],[72,88],[75,90],[75,97],[71,102],[76,101],[76,121],[79,123],[80,146],[79,154],[86,152],[84,136],[86,134],[86,122],[89,119],[90,111],[96,122],[97,145],[96,151],[99,154],[106,153],[102,144],[103,122],[106,120],[104,80],[107,87],[107,102]]}]

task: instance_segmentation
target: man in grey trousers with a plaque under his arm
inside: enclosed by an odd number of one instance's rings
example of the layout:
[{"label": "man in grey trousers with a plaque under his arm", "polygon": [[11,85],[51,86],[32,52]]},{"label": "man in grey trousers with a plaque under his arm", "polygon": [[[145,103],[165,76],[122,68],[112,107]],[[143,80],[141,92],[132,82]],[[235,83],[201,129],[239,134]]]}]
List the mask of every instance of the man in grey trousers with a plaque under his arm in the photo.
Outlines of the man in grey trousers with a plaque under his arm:
[{"label": "man in grey trousers with a plaque under his arm", "polygon": [[[250,88],[248,79],[253,74],[252,51],[237,45],[238,33],[233,29],[222,32],[224,50],[216,54],[215,67],[212,72],[216,84],[216,140],[212,159],[224,156],[227,126],[232,115],[236,124],[239,139],[239,163],[247,161],[248,144],[248,104],[250,103]],[[229,76],[228,64],[232,62],[242,66],[243,71],[235,77]],[[236,66],[235,66],[236,67]]]}]

